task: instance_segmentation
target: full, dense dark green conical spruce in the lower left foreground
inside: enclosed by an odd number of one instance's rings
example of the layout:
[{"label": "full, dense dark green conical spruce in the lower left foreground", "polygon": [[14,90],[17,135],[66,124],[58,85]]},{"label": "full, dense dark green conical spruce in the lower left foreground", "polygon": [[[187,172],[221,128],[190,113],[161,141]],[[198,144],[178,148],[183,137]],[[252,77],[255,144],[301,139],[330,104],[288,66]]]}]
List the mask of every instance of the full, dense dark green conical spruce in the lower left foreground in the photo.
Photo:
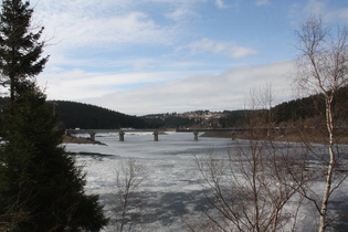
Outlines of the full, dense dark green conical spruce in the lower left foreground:
[{"label": "full, dense dark green conical spruce in the lower left foreground", "polygon": [[[15,103],[0,149],[0,231],[98,231],[107,223],[98,196],[61,144],[62,131],[29,87]],[[2,228],[2,229],[1,229]]]}]

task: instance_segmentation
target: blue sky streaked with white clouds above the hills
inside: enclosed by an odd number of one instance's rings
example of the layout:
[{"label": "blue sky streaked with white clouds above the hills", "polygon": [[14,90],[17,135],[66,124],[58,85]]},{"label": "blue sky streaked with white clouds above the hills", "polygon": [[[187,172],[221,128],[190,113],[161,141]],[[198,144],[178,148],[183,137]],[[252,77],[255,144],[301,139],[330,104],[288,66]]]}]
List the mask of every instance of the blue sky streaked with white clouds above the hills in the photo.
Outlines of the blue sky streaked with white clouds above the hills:
[{"label": "blue sky streaked with white clouds above the hills", "polygon": [[31,0],[48,99],[129,115],[245,108],[272,85],[294,95],[294,31],[309,13],[347,24],[346,0]]}]

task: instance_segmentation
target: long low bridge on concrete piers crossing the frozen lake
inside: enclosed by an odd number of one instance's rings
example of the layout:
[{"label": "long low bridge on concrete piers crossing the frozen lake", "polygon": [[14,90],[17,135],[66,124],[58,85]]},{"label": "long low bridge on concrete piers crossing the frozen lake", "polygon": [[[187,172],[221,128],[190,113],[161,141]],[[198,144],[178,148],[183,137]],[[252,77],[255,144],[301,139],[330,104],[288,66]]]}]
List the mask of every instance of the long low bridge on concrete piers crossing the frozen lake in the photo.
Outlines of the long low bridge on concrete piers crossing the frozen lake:
[{"label": "long low bridge on concrete piers crossing the frozen lake", "polygon": [[[193,133],[194,140],[198,140],[199,133],[207,133],[207,131],[242,131],[245,130],[243,128],[223,128],[223,129],[66,129],[65,135],[73,136],[76,134],[89,134],[91,140],[95,140],[95,135],[97,133],[117,133],[119,136],[119,141],[125,140],[125,134],[127,133],[152,133],[154,140],[158,141],[158,135],[160,133],[166,131],[177,131],[177,133]],[[231,134],[232,139],[234,139],[233,134]]]}]

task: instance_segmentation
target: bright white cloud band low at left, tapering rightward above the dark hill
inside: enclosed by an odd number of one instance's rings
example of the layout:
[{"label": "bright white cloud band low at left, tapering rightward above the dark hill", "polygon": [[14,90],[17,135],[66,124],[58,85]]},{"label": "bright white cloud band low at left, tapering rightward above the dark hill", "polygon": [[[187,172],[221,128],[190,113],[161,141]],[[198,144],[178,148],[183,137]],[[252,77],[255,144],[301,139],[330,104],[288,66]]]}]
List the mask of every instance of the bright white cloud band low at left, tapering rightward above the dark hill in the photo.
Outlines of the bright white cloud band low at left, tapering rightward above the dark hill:
[{"label": "bright white cloud band low at left, tapering rightward above the dark hill", "polygon": [[[52,72],[50,72],[52,71]],[[61,71],[51,67],[40,75],[39,85],[46,88],[50,99],[81,99],[143,85],[180,80],[181,72],[156,73],[87,73],[82,70]]]}]

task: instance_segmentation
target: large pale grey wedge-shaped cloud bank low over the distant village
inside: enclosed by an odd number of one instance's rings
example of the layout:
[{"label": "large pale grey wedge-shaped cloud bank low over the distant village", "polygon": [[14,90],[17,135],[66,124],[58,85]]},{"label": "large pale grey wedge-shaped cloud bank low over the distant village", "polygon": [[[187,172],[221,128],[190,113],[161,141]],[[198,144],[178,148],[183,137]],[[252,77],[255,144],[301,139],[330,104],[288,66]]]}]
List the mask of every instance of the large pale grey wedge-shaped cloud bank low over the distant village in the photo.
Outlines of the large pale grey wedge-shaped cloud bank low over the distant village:
[{"label": "large pale grey wedge-shaped cloud bank low over the distant village", "polygon": [[193,109],[236,109],[244,107],[251,88],[272,83],[280,101],[291,98],[287,75],[292,62],[230,70],[220,75],[194,75],[180,81],[152,84],[137,89],[84,99],[89,104],[126,114],[184,112]]}]

